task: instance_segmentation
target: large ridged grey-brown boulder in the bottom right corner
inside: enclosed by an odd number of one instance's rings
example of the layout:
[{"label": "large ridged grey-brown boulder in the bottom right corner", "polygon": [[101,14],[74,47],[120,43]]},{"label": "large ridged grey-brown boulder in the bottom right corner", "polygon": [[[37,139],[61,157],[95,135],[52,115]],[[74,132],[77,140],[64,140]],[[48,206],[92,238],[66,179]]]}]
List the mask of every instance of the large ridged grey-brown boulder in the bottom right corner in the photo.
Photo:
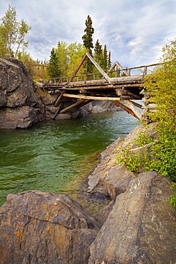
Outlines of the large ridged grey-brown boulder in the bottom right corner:
[{"label": "large ridged grey-brown boulder in the bottom right corner", "polygon": [[170,180],[140,173],[117,196],[90,249],[89,264],[176,262],[176,210],[168,201]]}]

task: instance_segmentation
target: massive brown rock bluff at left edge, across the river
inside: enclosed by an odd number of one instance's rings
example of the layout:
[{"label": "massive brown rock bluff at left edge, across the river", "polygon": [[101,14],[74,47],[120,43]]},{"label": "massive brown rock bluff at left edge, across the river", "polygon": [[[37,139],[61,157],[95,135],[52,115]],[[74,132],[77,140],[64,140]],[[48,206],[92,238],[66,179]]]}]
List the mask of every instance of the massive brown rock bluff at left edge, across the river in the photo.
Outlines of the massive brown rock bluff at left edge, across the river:
[{"label": "massive brown rock bluff at left edge, across the river", "polygon": [[0,58],[0,128],[28,128],[44,119],[34,86],[20,61]]}]

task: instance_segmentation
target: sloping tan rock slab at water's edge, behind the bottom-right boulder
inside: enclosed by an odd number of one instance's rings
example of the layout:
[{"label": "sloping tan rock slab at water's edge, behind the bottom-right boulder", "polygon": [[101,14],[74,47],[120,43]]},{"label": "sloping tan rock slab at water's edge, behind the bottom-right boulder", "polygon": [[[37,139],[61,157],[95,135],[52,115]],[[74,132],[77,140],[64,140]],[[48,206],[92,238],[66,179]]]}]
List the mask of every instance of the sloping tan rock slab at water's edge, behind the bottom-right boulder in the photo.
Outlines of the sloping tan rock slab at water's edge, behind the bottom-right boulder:
[{"label": "sloping tan rock slab at water's edge, behind the bottom-right boulder", "polygon": [[116,196],[126,191],[130,181],[138,177],[138,173],[129,171],[124,164],[119,165],[117,153],[120,148],[128,148],[129,146],[132,146],[133,151],[135,149],[138,151],[138,145],[134,139],[144,131],[146,135],[155,137],[155,129],[152,123],[147,128],[141,125],[131,131],[126,138],[118,138],[100,154],[100,164],[88,177],[88,192],[104,193],[115,200]]}]

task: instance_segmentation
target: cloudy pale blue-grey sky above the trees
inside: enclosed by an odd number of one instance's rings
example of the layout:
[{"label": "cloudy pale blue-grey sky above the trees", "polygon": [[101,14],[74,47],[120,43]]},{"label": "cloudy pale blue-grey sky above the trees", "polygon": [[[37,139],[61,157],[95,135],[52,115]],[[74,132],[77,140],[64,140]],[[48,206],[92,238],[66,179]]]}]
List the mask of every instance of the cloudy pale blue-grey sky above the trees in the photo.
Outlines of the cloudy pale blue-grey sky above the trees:
[{"label": "cloudy pale blue-grey sky above the trees", "polygon": [[111,51],[123,67],[158,62],[162,46],[176,38],[176,0],[0,0],[32,27],[26,39],[33,59],[49,59],[58,41],[83,43],[85,21],[93,21],[93,42]]}]

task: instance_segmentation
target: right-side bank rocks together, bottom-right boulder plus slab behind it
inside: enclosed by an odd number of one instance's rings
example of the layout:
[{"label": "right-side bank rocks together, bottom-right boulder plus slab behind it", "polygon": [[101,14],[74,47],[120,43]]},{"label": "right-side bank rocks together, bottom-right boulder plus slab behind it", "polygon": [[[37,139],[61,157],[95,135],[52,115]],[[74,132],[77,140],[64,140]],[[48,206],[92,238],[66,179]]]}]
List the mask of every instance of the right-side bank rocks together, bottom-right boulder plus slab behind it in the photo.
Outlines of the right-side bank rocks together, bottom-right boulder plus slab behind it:
[{"label": "right-side bank rocks together, bottom-right boulder plus slab behind it", "polygon": [[176,211],[168,198],[172,196],[170,180],[156,172],[133,173],[116,162],[120,148],[131,145],[138,153],[134,139],[141,132],[156,139],[154,128],[153,123],[138,126],[126,138],[118,138],[101,153],[100,164],[88,177],[90,193],[113,199],[95,216],[103,227],[90,247],[89,264],[176,263]]}]

